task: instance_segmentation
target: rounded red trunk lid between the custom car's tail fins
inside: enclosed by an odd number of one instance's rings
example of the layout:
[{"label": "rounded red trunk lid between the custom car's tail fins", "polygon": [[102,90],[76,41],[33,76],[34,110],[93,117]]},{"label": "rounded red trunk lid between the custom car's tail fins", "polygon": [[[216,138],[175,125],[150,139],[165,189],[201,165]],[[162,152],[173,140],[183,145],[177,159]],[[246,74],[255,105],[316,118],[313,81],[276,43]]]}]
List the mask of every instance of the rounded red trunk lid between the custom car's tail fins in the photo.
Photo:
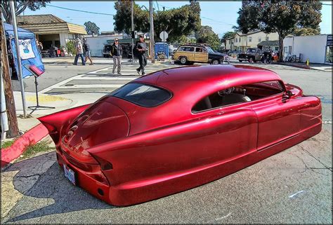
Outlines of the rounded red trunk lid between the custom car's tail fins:
[{"label": "rounded red trunk lid between the custom car's tail fins", "polygon": [[87,149],[98,144],[127,137],[129,119],[122,109],[110,102],[96,102],[67,127],[63,143],[68,148]]}]

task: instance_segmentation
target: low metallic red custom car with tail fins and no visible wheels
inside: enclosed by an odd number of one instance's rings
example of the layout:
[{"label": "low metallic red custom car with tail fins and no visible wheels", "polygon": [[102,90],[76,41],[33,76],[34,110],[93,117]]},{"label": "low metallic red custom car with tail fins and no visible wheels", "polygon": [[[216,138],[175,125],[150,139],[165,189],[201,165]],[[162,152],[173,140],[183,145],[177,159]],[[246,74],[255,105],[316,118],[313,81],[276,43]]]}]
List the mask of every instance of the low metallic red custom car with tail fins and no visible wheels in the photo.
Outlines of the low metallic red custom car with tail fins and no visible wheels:
[{"label": "low metallic red custom car with tail fins and no visible wheels", "polygon": [[164,69],[39,118],[70,182],[112,205],[184,191],[322,128],[318,97],[247,66]]}]

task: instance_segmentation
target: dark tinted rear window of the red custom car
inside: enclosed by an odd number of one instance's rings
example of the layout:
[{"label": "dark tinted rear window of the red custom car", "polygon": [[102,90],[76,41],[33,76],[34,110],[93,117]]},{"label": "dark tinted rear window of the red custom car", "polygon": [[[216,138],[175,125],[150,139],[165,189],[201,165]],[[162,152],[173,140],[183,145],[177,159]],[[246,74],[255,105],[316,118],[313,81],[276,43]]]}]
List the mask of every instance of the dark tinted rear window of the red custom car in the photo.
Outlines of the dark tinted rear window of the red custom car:
[{"label": "dark tinted rear window of the red custom car", "polygon": [[109,95],[138,104],[141,107],[156,107],[171,98],[169,91],[144,83],[128,83]]}]

